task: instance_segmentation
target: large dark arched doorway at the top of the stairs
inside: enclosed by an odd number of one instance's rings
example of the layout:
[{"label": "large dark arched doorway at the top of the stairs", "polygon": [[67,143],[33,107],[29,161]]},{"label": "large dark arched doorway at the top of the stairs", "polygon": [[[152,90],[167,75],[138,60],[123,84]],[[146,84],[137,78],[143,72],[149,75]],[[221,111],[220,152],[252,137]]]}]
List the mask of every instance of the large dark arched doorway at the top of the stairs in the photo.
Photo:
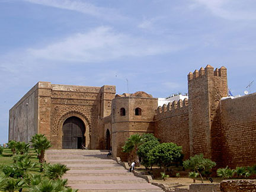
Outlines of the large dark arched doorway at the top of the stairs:
[{"label": "large dark arched doorway at the top of the stairs", "polygon": [[82,149],[82,145],[85,145],[85,126],[78,117],[66,119],[62,131],[62,149]]}]

